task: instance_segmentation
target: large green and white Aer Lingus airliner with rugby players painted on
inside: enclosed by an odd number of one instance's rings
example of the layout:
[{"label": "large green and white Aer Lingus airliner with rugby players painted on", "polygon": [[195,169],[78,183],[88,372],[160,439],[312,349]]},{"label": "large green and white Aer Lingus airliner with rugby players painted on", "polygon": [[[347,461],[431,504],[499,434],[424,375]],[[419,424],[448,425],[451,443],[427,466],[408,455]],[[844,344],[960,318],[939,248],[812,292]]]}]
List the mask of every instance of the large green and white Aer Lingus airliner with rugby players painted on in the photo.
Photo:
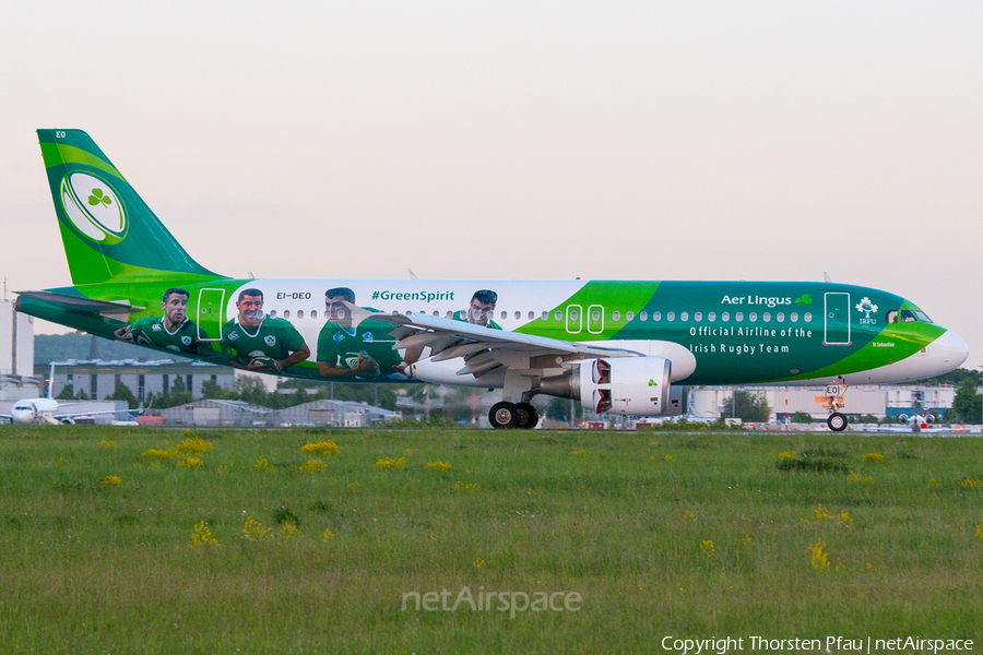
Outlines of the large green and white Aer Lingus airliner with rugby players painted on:
[{"label": "large green and white Aer Lingus airliner with rugby players painted on", "polygon": [[37,133],[73,286],[17,309],[105,338],[310,380],[501,389],[496,428],[535,427],[536,394],[671,416],[682,384],[891,383],[968,355],[911,301],[830,283],[232,278],[192,260],[85,132]]}]

